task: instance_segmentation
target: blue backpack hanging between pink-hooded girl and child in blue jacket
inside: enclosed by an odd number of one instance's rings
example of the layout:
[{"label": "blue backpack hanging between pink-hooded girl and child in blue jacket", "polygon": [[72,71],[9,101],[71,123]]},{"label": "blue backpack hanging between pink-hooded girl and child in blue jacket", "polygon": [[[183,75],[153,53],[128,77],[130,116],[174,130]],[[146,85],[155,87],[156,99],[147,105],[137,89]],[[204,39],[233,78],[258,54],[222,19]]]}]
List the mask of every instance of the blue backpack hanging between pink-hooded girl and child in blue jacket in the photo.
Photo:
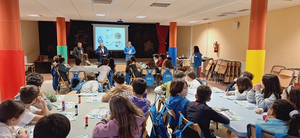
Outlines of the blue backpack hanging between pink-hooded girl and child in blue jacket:
[{"label": "blue backpack hanging between pink-hooded girl and child in blue jacket", "polygon": [[[165,104],[162,108],[164,107]],[[169,134],[166,129],[167,124],[164,124],[167,118],[163,120],[163,115],[167,114],[167,111],[169,111],[169,109],[166,109],[163,113],[157,115],[157,117],[155,118],[155,122],[152,124],[150,138],[169,138]]]}]

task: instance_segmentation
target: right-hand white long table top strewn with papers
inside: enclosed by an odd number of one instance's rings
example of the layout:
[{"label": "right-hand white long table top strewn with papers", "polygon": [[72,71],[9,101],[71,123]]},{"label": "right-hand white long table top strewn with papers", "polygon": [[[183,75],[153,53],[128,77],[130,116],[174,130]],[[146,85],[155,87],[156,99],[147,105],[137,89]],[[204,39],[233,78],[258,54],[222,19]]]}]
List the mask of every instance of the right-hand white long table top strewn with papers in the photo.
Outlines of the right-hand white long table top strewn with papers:
[{"label": "right-hand white long table top strewn with papers", "polygon": [[[185,97],[189,101],[195,101],[195,96],[194,93],[196,93],[197,89],[188,89],[188,94]],[[253,108],[244,108],[242,106],[239,106],[238,104],[234,103],[237,101],[245,101],[245,100],[229,100],[222,98],[218,95],[222,95],[224,93],[212,93],[211,94],[211,100],[207,102],[206,104],[211,107],[224,107],[229,110],[233,110],[236,114],[238,114],[240,117],[242,117],[245,120],[241,121],[230,121],[230,124],[225,125],[221,124],[234,134],[240,137],[247,137],[247,124],[254,124],[256,119],[262,119],[261,114],[256,114],[254,111],[255,109]]]}]

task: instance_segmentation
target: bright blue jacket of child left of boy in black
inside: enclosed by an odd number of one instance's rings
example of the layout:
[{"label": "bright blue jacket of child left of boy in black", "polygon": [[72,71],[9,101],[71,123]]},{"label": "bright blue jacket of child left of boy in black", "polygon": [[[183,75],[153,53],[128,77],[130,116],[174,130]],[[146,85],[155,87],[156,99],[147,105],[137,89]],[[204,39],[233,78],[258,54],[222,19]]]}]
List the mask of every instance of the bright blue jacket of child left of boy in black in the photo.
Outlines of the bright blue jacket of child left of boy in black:
[{"label": "bright blue jacket of child left of boy in black", "polygon": [[169,96],[165,100],[166,107],[168,109],[173,110],[176,115],[176,120],[174,120],[174,118],[172,118],[172,117],[169,118],[169,125],[170,125],[171,129],[174,129],[174,125],[178,125],[178,122],[179,122],[178,111],[181,111],[181,113],[184,116],[186,116],[186,108],[187,108],[188,103],[189,103],[189,100],[187,100],[186,98],[184,98],[182,96],[178,96],[178,95],[176,95],[175,97]]}]

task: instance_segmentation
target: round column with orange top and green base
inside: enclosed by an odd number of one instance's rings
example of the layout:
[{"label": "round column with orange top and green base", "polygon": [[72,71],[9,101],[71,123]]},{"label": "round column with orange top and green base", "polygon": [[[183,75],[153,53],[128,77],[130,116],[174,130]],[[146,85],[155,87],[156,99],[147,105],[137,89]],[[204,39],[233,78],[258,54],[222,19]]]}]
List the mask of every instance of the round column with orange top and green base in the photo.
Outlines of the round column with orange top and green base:
[{"label": "round column with orange top and green base", "polygon": [[65,19],[64,17],[56,17],[56,32],[57,32],[57,54],[62,54],[67,61],[67,46],[65,38]]}]

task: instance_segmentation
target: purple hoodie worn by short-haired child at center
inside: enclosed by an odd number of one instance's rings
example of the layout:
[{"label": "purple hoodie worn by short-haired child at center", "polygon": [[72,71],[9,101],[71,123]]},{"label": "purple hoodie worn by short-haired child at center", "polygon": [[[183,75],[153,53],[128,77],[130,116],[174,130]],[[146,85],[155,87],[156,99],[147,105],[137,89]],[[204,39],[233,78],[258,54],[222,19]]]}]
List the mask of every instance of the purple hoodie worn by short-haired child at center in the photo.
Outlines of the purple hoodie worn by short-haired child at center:
[{"label": "purple hoodie worn by short-haired child at center", "polygon": [[142,99],[139,99],[138,97],[131,95],[128,97],[128,99],[138,108],[140,109],[145,117],[147,116],[148,110],[150,108],[150,101],[146,99],[147,94],[142,95]]}]

